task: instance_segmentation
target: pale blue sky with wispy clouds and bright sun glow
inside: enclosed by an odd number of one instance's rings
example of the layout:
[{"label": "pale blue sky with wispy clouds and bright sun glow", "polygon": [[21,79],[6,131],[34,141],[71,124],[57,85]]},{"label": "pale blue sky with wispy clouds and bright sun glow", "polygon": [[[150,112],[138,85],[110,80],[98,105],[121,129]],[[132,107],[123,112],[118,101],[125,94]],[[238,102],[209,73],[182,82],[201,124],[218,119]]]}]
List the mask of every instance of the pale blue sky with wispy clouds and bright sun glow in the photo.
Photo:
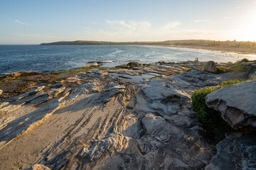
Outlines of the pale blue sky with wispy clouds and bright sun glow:
[{"label": "pale blue sky with wispy clouds and bright sun glow", "polygon": [[0,44],[256,41],[256,0],[0,0]]}]

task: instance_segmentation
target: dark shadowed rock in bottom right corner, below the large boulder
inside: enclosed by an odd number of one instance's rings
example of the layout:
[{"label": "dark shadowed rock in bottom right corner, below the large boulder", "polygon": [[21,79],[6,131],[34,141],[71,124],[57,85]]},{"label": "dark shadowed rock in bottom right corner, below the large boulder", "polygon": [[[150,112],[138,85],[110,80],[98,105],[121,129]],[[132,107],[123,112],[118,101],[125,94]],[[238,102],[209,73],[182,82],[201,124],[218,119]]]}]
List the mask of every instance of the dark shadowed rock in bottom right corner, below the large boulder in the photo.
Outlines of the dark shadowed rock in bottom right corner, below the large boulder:
[{"label": "dark shadowed rock in bottom right corner, below the large boulder", "polygon": [[256,138],[252,134],[228,135],[216,145],[217,154],[205,170],[256,169]]}]

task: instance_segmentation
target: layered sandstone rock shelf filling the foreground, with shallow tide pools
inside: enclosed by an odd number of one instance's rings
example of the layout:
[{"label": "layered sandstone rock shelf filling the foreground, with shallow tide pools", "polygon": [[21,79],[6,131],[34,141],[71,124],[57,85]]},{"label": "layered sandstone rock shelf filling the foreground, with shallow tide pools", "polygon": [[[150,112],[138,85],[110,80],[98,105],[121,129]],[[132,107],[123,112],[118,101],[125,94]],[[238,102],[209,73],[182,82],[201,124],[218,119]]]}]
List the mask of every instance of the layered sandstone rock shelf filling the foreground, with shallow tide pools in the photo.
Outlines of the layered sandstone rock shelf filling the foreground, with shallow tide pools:
[{"label": "layered sandstone rock shelf filling the foreground, with shallow tide pools", "polygon": [[195,90],[252,77],[248,63],[246,73],[188,61],[1,75],[0,167],[256,169],[255,132],[213,140],[191,106]]}]

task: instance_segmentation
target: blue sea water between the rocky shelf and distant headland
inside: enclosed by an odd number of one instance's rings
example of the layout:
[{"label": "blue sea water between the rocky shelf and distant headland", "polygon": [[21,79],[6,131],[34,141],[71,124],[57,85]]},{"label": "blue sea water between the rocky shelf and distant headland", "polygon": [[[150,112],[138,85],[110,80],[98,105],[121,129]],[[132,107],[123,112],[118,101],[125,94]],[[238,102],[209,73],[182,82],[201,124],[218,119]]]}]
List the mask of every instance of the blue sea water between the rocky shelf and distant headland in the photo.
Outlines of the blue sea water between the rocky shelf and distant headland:
[{"label": "blue sea water between the rocky shelf and distant headland", "polygon": [[[107,67],[135,61],[142,63],[187,60],[236,62],[245,57],[235,53],[175,47],[132,45],[0,45],[0,74],[68,70],[87,62],[108,62]],[[256,56],[246,56],[256,60]]]}]

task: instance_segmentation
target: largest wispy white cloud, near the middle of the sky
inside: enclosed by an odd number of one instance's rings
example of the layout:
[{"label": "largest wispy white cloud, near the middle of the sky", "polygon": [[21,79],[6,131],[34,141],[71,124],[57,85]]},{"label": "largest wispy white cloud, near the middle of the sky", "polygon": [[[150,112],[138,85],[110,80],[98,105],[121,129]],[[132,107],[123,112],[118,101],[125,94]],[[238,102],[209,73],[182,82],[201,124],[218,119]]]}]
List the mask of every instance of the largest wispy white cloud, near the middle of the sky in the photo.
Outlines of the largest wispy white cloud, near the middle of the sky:
[{"label": "largest wispy white cloud, near the middle of the sky", "polygon": [[112,26],[112,28],[120,30],[120,31],[137,31],[137,32],[145,32],[151,28],[151,23],[146,21],[106,21],[107,24]]}]

